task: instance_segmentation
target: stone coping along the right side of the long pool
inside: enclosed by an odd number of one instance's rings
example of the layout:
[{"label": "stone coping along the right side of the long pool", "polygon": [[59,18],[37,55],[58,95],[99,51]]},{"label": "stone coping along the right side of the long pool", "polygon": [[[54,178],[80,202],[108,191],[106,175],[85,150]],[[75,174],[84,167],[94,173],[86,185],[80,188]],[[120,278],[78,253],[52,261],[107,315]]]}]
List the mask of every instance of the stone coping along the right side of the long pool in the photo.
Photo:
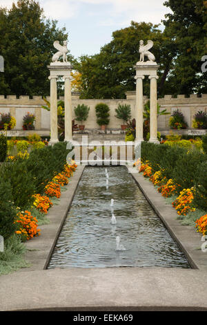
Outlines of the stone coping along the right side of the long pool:
[{"label": "stone coping along the right side of the long pool", "polygon": [[178,214],[175,209],[172,205],[166,203],[166,198],[157,192],[157,189],[150,183],[148,178],[144,178],[141,174],[131,173],[129,168],[128,171],[161,221],[166,225],[172,238],[186,255],[190,266],[207,271],[207,252],[201,251],[201,234],[197,233],[193,227],[181,225],[180,221],[177,220]]}]

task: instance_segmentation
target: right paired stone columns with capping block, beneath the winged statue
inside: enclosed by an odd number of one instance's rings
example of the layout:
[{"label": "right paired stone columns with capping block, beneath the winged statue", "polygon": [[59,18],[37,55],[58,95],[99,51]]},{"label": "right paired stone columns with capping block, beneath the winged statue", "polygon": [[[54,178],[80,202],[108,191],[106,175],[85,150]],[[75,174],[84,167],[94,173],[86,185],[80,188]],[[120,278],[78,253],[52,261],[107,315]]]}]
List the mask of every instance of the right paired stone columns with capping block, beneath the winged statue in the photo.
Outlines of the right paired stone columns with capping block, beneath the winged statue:
[{"label": "right paired stone columns with capping block, beneath the winged statue", "polygon": [[150,78],[150,142],[157,140],[157,69],[156,62],[137,62],[135,66],[137,80],[136,86],[136,141],[143,141],[143,80],[145,75]]}]

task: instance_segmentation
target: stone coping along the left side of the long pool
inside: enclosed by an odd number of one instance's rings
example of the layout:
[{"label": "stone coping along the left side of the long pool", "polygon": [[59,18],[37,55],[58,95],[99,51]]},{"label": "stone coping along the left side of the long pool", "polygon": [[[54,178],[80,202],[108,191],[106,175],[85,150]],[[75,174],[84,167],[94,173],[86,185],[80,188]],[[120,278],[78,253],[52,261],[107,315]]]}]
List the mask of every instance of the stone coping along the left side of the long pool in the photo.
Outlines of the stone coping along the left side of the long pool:
[{"label": "stone coping along the left side of the long pool", "polygon": [[50,256],[68,214],[68,210],[70,209],[70,204],[72,203],[77,186],[79,185],[79,180],[81,179],[84,168],[85,166],[77,166],[68,185],[64,187],[66,190],[61,193],[59,204],[53,205],[48,211],[47,218],[50,220],[50,223],[48,225],[39,226],[41,236],[26,242],[28,251],[24,258],[32,265],[30,268],[21,268],[17,272],[44,270],[48,266]]}]

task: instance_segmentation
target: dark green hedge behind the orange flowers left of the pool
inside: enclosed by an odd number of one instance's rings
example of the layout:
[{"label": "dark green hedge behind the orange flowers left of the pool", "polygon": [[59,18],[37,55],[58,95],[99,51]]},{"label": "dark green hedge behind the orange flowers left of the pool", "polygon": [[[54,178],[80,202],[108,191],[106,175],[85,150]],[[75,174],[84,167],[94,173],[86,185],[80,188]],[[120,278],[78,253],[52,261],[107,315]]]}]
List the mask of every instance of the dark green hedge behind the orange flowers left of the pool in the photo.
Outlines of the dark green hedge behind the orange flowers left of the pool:
[{"label": "dark green hedge behind the orange flowers left of the pool", "polygon": [[32,204],[33,194],[43,194],[46,184],[63,171],[69,152],[66,142],[59,142],[53,147],[34,149],[28,160],[4,165],[0,178],[10,183],[14,205],[23,209]]}]

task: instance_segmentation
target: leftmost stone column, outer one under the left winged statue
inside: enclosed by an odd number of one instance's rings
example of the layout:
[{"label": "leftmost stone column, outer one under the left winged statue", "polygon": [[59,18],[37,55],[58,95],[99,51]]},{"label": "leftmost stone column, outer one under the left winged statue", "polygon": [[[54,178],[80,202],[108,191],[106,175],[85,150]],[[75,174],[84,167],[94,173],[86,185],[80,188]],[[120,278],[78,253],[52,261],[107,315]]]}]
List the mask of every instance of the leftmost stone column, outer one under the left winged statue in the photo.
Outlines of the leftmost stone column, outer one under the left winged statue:
[{"label": "leftmost stone column, outer one under the left winged statue", "polygon": [[57,132],[57,76],[50,76],[50,145],[58,142]]}]

